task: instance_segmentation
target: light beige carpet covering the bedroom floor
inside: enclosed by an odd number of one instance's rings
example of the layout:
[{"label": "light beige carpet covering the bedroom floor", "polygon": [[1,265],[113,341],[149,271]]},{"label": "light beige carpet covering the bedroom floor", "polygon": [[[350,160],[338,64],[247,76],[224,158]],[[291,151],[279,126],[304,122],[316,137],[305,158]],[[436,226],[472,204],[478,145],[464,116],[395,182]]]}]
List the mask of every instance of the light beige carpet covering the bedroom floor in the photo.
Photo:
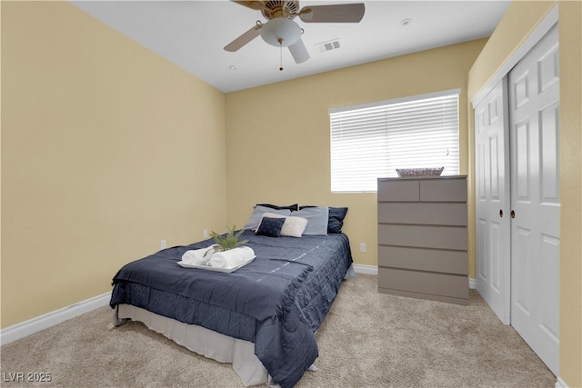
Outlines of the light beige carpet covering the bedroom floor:
[{"label": "light beige carpet covering the bedroom floor", "polygon": [[[2,386],[240,387],[230,364],[199,356],[142,323],[106,326],[102,307],[0,348]],[[316,372],[297,387],[554,387],[556,377],[471,290],[468,306],[343,282],[317,332]],[[9,374],[12,373],[12,374]],[[11,382],[50,373],[47,383]]]}]

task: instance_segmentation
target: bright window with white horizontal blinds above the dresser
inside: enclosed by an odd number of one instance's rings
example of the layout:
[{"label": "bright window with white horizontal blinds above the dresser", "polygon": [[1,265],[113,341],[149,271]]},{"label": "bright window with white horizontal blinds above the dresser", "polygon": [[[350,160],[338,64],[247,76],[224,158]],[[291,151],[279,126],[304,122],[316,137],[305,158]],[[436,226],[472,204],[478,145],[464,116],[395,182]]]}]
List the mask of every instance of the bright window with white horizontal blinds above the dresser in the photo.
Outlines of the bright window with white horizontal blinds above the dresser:
[{"label": "bright window with white horizontal blinds above the dresser", "polygon": [[458,95],[431,95],[329,110],[331,191],[376,192],[396,168],[458,174]]}]

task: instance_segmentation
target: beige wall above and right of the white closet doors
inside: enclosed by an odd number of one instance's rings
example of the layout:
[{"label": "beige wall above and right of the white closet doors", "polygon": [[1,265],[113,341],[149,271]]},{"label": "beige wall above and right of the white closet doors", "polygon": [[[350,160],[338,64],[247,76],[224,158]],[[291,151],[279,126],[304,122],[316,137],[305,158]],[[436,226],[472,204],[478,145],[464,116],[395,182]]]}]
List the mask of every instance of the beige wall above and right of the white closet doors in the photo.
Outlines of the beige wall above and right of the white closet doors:
[{"label": "beige wall above and right of the white closet doors", "polygon": [[[469,72],[469,98],[493,75],[545,15],[558,5],[560,60],[560,373],[582,386],[582,3],[514,2]],[[472,122],[471,122],[472,124]],[[472,129],[469,130],[472,133]],[[472,137],[472,136],[471,136]],[[473,171],[474,160],[471,159]],[[474,185],[473,185],[474,193]],[[474,268],[474,267],[473,267]]]}]

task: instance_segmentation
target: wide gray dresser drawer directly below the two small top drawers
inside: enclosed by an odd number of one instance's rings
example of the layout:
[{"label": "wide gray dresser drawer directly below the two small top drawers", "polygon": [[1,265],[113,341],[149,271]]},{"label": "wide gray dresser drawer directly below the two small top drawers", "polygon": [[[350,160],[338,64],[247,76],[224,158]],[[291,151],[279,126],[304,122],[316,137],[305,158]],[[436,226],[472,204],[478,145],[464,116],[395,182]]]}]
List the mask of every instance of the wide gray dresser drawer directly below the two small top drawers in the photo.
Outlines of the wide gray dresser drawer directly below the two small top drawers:
[{"label": "wide gray dresser drawer directly below the two small top drawers", "polygon": [[378,223],[467,225],[465,203],[379,203]]}]

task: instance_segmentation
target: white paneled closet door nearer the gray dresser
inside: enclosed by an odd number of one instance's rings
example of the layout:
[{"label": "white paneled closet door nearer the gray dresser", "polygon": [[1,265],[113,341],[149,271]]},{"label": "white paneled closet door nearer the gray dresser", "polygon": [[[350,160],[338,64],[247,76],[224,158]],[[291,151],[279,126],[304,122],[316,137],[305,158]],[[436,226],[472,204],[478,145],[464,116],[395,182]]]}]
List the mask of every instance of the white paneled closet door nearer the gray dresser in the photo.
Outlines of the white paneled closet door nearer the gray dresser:
[{"label": "white paneled closet door nearer the gray dresser", "polygon": [[504,78],[475,109],[477,291],[510,323],[509,134]]}]

